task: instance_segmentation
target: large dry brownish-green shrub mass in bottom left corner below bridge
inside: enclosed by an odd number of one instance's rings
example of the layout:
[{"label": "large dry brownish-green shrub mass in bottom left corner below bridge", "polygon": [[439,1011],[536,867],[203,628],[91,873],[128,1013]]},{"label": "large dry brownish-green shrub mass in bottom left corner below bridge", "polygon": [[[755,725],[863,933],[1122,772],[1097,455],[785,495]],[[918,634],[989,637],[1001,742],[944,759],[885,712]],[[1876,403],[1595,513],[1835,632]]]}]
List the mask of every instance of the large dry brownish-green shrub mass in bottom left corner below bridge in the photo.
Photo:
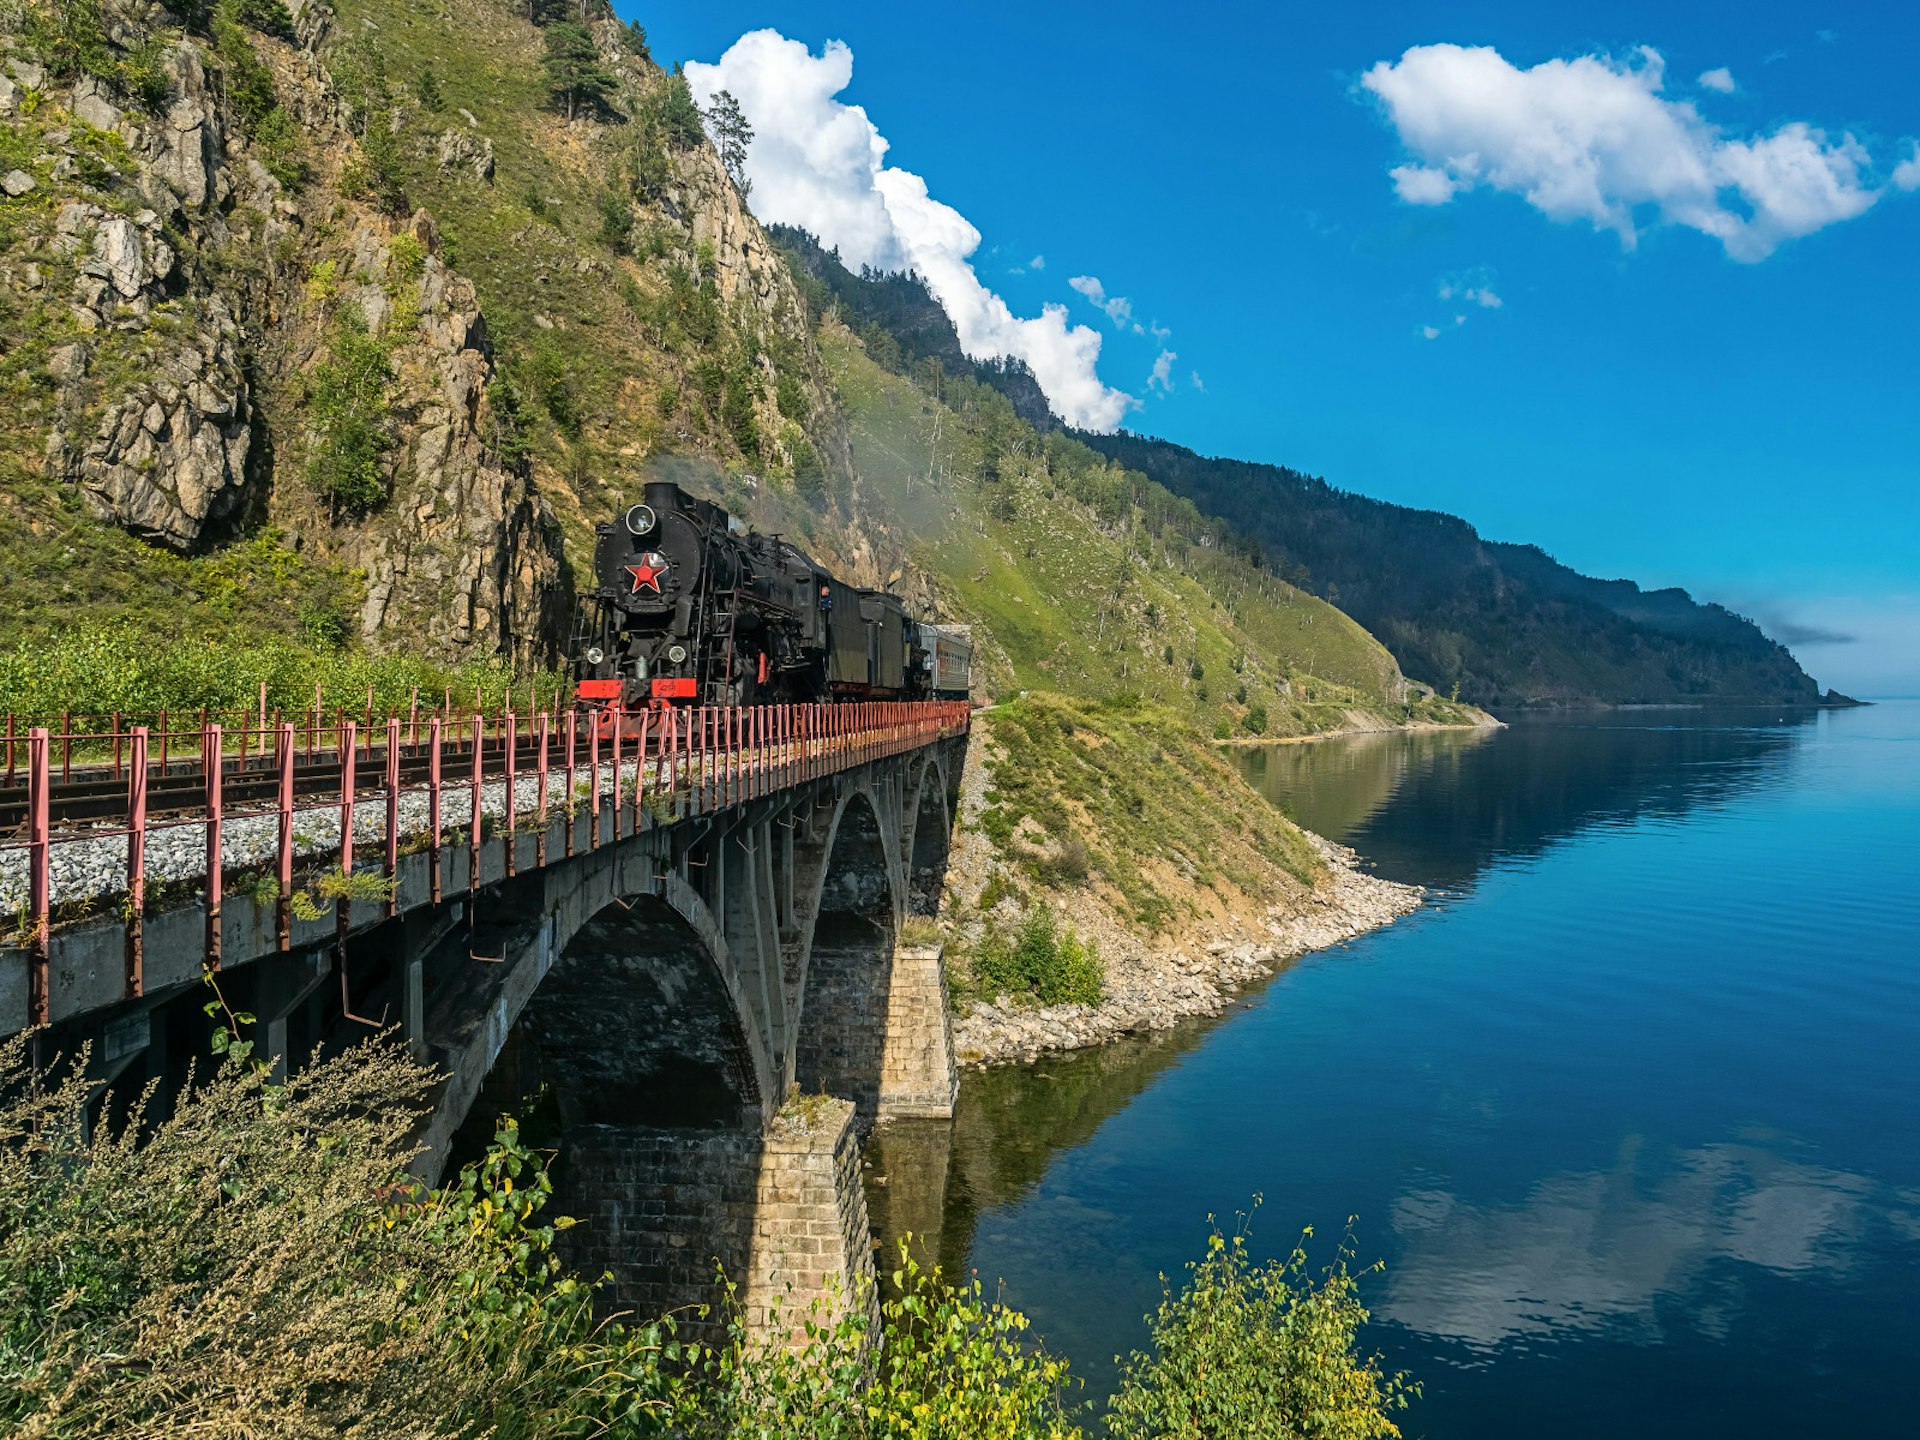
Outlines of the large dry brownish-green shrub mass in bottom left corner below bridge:
[{"label": "large dry brownish-green shrub mass in bottom left corner below bridge", "polygon": [[148,1091],[94,1127],[84,1054],[27,1064],[0,1043],[0,1428],[588,1434],[666,1409],[664,1332],[595,1329],[511,1121],[445,1188],[405,1177],[432,1071],[397,1048],[273,1085],[230,1043],[167,1114]]}]

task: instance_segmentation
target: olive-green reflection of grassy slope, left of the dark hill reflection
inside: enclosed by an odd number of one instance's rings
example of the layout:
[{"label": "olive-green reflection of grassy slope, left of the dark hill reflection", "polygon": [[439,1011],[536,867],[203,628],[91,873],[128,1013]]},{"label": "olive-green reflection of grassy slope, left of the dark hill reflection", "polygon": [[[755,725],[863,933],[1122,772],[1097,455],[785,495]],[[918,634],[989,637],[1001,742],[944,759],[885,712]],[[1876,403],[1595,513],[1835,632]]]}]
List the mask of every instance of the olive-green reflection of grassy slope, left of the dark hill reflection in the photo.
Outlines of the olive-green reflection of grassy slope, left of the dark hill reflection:
[{"label": "olive-green reflection of grassy slope, left of the dark hill reflection", "polygon": [[1315,835],[1359,829],[1409,772],[1448,764],[1492,730],[1427,730],[1344,735],[1309,745],[1246,745],[1233,760],[1248,785]]}]

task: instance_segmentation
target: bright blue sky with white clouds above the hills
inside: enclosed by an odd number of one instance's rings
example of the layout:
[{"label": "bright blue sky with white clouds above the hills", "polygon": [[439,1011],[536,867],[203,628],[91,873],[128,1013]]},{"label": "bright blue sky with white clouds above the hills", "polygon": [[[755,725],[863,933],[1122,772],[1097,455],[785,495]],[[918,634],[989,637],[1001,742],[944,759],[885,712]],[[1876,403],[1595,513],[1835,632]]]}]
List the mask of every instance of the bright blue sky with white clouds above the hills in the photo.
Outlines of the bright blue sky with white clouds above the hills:
[{"label": "bright blue sky with white clouds above the hills", "polygon": [[1068,419],[1920,693],[1920,6],[616,4]]}]

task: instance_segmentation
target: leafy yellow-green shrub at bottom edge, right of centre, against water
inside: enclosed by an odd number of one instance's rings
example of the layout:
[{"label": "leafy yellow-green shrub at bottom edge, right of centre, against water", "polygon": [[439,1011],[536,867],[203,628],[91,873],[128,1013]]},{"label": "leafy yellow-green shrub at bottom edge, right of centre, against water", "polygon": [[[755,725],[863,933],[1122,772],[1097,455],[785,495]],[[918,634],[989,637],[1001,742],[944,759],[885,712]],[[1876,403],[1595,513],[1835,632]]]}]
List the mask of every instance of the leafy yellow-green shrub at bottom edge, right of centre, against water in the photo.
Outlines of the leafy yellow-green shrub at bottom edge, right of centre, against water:
[{"label": "leafy yellow-green shrub at bottom edge, right of centre, against water", "polygon": [[1162,1279],[1160,1308],[1146,1317],[1154,1348],[1125,1359],[1108,1405],[1114,1440],[1398,1436],[1392,1415],[1419,1386],[1357,1350],[1367,1308],[1348,1269],[1352,1229],[1319,1281],[1304,1244],[1256,1265],[1246,1238],[1244,1225],[1231,1236],[1215,1229],[1179,1294]]}]

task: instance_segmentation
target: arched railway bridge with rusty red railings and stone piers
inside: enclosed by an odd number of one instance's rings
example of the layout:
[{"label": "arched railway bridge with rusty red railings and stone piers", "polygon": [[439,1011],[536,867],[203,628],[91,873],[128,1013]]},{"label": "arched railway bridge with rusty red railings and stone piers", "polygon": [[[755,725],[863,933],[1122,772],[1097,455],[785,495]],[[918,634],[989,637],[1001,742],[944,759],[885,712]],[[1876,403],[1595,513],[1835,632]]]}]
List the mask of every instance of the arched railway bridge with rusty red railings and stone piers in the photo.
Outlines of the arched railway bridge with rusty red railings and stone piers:
[{"label": "arched railway bridge with rusty red railings and stone piers", "polygon": [[[436,1062],[428,1173],[528,1114],[559,1148],[561,1213],[586,1221],[576,1260],[612,1271],[622,1306],[701,1298],[714,1260],[749,1311],[872,1271],[856,1119],[950,1114],[956,1089],[941,956],[899,927],[939,895],[966,705],[691,710],[603,735],[509,714],[492,739],[463,722],[459,745],[396,718],[319,755],[311,728],[267,732],[215,730],[165,772],[132,732],[106,835],[54,831],[58,739],[23,741],[0,1033],[92,1041],[119,1094],[177,1087],[207,1054],[211,960],[278,1066],[355,1021]],[[182,774],[205,799],[150,814]],[[102,854],[125,876],[106,904]]]}]

